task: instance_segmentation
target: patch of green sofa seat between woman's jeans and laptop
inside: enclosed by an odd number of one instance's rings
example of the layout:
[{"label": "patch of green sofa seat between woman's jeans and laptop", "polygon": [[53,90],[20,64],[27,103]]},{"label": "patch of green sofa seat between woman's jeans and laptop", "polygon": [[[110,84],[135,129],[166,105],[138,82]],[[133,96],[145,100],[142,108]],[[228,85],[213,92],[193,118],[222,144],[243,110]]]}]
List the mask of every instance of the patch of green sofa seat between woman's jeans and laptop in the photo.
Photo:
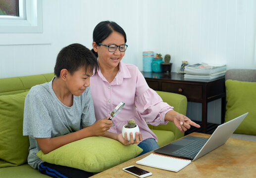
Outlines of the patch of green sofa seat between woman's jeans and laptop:
[{"label": "patch of green sofa seat between woman's jeans and laptop", "polygon": [[174,133],[171,131],[161,131],[161,130],[152,130],[152,132],[157,136],[157,144],[159,147],[166,145],[175,140]]}]

